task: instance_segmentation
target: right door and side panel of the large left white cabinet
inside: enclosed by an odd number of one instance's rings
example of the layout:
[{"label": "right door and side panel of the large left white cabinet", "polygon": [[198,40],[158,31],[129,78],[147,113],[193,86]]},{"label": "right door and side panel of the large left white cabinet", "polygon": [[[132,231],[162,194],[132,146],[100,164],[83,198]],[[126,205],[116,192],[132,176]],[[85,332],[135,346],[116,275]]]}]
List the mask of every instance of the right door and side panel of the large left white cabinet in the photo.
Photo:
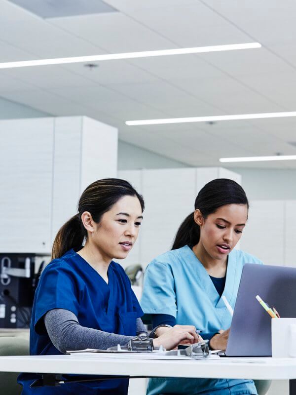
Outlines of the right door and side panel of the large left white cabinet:
[{"label": "right door and side panel of the large left white cabinet", "polygon": [[81,193],[93,181],[116,177],[117,129],[87,117],[55,118],[51,240],[77,213]]}]

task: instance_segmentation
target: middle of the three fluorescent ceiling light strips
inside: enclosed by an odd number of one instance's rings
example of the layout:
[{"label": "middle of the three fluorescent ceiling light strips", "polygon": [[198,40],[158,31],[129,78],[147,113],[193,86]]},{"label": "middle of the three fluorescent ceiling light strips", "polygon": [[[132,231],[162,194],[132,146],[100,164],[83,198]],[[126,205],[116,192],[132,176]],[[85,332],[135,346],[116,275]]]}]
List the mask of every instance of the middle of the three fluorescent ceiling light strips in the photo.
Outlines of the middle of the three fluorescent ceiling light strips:
[{"label": "middle of the three fluorescent ceiling light strips", "polygon": [[138,126],[138,125],[160,125],[164,123],[210,122],[210,121],[218,121],[218,120],[286,118],[286,117],[296,117],[296,111],[289,111],[282,113],[219,115],[219,116],[211,116],[211,117],[127,120],[125,123],[129,126]]}]

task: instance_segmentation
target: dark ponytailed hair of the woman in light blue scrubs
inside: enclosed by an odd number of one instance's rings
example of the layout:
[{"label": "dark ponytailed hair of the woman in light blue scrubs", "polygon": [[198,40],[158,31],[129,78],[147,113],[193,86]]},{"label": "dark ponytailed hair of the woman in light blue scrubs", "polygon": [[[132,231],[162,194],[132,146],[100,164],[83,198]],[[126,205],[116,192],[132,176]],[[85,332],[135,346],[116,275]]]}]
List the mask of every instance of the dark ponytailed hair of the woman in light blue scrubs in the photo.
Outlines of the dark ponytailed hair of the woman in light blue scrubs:
[{"label": "dark ponytailed hair of the woman in light blue scrubs", "polygon": [[[194,208],[199,208],[204,219],[213,214],[219,207],[226,204],[246,204],[249,202],[243,188],[228,178],[217,178],[206,184],[198,193]],[[172,250],[189,245],[196,245],[200,237],[200,228],[193,218],[194,212],[189,214],[177,231]]]}]

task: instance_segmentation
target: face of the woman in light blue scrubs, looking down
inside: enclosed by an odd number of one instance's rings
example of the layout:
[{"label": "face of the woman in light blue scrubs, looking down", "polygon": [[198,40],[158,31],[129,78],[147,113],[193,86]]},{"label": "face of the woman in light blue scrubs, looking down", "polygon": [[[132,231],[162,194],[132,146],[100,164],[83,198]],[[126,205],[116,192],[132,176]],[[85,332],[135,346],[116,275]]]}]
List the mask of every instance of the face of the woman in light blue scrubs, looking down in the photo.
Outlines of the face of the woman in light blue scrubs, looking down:
[{"label": "face of the woman in light blue scrubs, looking down", "polygon": [[194,220],[200,226],[200,240],[214,259],[225,259],[242,236],[248,218],[246,204],[226,204],[204,219],[199,210]]}]

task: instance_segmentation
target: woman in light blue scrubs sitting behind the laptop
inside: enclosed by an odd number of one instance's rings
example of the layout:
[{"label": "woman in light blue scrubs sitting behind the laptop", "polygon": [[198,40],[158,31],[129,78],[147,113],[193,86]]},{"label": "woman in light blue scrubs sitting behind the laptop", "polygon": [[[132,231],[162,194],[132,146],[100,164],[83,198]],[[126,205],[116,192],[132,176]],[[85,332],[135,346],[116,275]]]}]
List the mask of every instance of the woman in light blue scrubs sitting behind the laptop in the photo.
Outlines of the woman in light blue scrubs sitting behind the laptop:
[{"label": "woman in light blue scrubs sitting behind the laptop", "polygon": [[[152,315],[155,336],[190,324],[202,330],[212,349],[226,349],[231,316],[222,295],[234,308],[244,264],[262,264],[234,249],[248,209],[244,190],[232,180],[216,179],[201,189],[172,250],[146,269],[141,307]],[[256,395],[257,390],[252,380],[153,378],[147,394]]]}]

